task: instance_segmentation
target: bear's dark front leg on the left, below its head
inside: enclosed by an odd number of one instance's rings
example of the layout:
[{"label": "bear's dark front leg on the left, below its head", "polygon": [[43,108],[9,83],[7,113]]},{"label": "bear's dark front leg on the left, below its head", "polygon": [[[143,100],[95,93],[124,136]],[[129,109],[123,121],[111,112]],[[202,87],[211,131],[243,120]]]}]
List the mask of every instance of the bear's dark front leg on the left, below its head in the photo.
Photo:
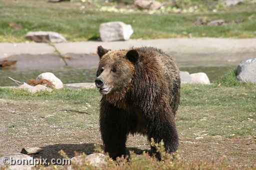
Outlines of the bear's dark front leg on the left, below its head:
[{"label": "bear's dark front leg on the left, below its head", "polygon": [[125,155],[127,139],[125,113],[107,101],[101,101],[99,125],[104,151],[113,160]]}]

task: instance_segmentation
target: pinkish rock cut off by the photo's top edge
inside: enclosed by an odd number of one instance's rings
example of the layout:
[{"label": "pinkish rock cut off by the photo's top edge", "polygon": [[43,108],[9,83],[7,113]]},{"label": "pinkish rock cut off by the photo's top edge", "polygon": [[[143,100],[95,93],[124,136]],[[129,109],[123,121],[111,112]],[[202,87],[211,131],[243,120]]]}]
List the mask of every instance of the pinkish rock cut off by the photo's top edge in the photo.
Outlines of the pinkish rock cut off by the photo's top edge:
[{"label": "pinkish rock cut off by the photo's top edge", "polygon": [[135,0],[134,5],[139,9],[159,9],[163,4],[155,0]]}]

